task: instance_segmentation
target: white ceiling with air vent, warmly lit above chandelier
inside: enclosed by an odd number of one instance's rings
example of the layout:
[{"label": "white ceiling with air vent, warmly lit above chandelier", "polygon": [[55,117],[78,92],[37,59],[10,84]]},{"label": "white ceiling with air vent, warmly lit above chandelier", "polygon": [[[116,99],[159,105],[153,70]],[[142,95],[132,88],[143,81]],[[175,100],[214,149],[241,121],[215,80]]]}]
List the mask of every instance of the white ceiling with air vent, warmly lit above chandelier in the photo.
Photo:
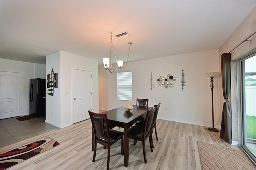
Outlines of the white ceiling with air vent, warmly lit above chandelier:
[{"label": "white ceiling with air vent, warmly lit above chandelier", "polygon": [[[256,0],[1,0],[0,58],[32,63],[62,50],[126,61],[219,48]],[[246,37],[244,37],[246,38]],[[227,51],[229,52],[229,51]]]}]

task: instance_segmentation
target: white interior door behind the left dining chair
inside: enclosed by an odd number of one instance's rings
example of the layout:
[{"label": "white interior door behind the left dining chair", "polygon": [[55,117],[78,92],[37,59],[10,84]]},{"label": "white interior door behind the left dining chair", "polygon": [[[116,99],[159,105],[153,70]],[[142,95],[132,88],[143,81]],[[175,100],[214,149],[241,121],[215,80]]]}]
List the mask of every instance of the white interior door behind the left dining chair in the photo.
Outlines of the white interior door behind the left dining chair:
[{"label": "white interior door behind the left dining chair", "polygon": [[73,123],[89,119],[91,110],[91,72],[73,69]]}]

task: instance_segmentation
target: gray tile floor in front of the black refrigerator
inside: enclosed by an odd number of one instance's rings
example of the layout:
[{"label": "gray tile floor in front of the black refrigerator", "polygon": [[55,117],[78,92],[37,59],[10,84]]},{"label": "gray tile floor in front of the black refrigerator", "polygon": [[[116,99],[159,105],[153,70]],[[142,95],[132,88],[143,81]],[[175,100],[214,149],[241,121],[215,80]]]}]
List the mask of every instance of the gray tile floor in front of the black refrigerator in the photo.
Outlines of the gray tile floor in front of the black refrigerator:
[{"label": "gray tile floor in front of the black refrigerator", "polygon": [[58,129],[45,123],[45,117],[18,121],[17,117],[0,120],[0,148]]}]

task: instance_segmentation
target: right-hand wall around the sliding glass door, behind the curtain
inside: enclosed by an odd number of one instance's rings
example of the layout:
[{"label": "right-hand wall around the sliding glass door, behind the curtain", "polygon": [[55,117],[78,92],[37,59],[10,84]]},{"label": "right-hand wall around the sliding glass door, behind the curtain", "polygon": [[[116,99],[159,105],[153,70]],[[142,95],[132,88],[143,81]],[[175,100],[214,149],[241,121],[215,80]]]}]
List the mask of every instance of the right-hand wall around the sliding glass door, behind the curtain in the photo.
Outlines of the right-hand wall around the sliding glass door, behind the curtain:
[{"label": "right-hand wall around the sliding glass door, behind the curtain", "polygon": [[[244,41],[248,36],[252,33],[256,32],[256,8],[254,8],[248,16],[243,20],[243,22],[238,26],[238,28],[232,33],[232,35],[226,40],[226,42],[220,47],[220,54],[228,53],[242,41]],[[237,87],[237,67],[236,60],[241,59],[244,56],[256,51],[256,34],[249,38],[250,41],[246,41],[242,43],[239,47],[237,47],[234,51],[231,52],[231,93],[229,97],[229,101],[231,103],[231,111],[232,111],[232,140],[238,141],[238,87]],[[221,84],[220,79],[220,84]],[[220,106],[222,112],[223,106],[223,93],[222,93],[222,85],[220,87]]]}]

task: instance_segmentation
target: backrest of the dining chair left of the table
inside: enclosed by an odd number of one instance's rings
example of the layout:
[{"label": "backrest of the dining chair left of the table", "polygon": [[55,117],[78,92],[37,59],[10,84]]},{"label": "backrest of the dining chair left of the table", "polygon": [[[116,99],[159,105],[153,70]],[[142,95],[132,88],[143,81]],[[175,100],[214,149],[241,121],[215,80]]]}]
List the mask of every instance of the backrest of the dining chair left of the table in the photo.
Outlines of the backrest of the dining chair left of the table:
[{"label": "backrest of the dining chair left of the table", "polygon": [[[107,115],[94,113],[92,111],[88,111],[91,121],[92,127],[94,130],[94,135],[97,138],[104,140],[105,142],[109,141],[109,130],[108,130],[108,123],[107,123]],[[104,124],[106,125],[106,129],[104,129]]]}]

